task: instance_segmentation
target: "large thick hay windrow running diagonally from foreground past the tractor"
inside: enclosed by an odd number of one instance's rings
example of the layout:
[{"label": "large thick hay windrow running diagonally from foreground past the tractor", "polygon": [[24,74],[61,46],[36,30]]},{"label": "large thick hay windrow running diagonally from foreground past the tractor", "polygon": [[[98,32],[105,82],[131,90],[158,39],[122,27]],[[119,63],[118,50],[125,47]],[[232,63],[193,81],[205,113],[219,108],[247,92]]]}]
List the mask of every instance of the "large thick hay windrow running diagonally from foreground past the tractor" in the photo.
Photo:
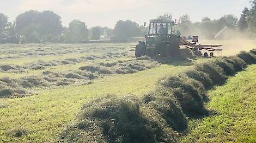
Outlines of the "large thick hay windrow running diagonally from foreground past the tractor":
[{"label": "large thick hay windrow running diagonally from foreground past the tractor", "polygon": [[[160,80],[157,89],[145,95],[142,101],[133,96],[97,98],[83,106],[77,116],[78,121],[66,129],[62,140],[175,142],[175,131],[187,129],[187,116],[197,118],[209,115],[204,106],[207,101],[205,90],[221,85],[227,76],[246,68],[247,64],[237,56],[197,64],[184,74]],[[114,67],[110,64],[106,66]],[[129,70],[136,69],[127,67]],[[141,124],[147,128],[141,128]]]}]

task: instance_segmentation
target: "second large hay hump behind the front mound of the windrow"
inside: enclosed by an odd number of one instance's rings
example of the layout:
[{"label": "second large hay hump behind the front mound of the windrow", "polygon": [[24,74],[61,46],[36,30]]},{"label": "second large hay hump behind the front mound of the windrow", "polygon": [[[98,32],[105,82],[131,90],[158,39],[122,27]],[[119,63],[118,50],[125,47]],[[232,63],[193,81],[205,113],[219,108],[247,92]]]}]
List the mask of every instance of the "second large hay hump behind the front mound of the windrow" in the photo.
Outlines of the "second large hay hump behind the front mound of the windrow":
[{"label": "second large hay hump behind the front mound of the windrow", "polygon": [[168,77],[160,82],[164,88],[172,89],[182,111],[188,115],[208,114],[204,107],[205,89],[202,83],[185,75]]}]

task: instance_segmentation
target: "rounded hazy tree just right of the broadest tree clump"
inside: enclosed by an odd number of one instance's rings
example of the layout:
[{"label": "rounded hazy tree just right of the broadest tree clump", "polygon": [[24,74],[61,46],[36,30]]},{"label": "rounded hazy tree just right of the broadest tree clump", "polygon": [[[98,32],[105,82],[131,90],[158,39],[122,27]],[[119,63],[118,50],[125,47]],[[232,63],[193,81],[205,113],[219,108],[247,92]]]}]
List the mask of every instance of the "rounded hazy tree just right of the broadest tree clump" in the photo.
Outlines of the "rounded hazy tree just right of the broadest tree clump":
[{"label": "rounded hazy tree just right of the broadest tree clump", "polygon": [[88,30],[86,23],[75,19],[69,23],[69,28],[65,31],[66,42],[80,43],[82,40],[86,40],[88,36]]}]

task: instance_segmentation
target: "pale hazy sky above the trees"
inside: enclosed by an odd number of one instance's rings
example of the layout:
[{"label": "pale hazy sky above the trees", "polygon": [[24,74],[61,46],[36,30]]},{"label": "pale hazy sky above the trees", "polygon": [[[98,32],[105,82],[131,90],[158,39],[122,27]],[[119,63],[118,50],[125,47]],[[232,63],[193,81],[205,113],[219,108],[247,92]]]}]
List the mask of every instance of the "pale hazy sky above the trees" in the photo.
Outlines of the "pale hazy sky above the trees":
[{"label": "pale hazy sky above the trees", "polygon": [[172,12],[174,18],[188,14],[193,22],[208,16],[220,18],[224,14],[240,17],[250,0],[1,0],[0,12],[13,21],[26,10],[52,10],[62,17],[64,25],[72,19],[113,28],[119,19],[130,19],[142,25],[164,12]]}]

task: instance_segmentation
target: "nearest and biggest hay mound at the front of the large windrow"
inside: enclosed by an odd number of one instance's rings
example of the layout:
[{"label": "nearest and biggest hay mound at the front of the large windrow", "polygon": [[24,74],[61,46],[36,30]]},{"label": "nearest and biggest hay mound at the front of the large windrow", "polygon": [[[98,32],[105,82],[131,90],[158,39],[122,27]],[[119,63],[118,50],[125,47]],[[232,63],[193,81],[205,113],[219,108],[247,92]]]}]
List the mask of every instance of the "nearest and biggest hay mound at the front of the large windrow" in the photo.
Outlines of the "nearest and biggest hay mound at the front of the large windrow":
[{"label": "nearest and biggest hay mound at the front of the large windrow", "polygon": [[173,142],[175,136],[154,109],[144,108],[134,96],[106,96],[82,107],[79,120],[66,129],[62,141]]}]

